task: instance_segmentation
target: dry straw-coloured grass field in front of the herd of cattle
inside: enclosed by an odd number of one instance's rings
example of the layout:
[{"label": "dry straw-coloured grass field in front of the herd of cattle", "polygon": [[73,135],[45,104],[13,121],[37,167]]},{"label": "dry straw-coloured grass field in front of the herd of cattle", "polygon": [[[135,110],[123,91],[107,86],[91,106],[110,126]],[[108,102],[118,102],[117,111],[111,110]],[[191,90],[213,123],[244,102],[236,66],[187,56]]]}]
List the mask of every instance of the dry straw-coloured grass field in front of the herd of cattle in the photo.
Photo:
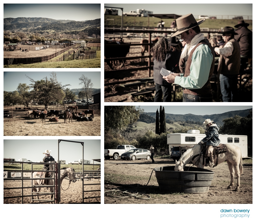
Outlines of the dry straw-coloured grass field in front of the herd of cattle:
[{"label": "dry straw-coloured grass field in front of the herd of cattle", "polygon": [[4,119],[4,136],[100,136],[100,110],[94,111],[92,122],[73,122],[64,124],[64,119],[42,122],[40,118]]}]

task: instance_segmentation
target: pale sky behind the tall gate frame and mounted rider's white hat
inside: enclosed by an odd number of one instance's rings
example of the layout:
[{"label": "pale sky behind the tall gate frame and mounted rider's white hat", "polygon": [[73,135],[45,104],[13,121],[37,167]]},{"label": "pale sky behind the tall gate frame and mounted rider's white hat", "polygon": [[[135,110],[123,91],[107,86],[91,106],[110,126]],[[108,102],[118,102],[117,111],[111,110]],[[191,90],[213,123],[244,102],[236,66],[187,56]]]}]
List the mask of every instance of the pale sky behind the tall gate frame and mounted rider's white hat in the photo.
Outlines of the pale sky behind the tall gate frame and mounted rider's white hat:
[{"label": "pale sky behind the tall gate frame and mounted rider's white hat", "polygon": [[[64,139],[84,142],[84,160],[100,159],[100,140]],[[43,161],[45,150],[51,150],[50,155],[58,160],[58,140],[4,140],[4,158],[13,158],[18,161],[26,158],[32,162]],[[82,145],[80,143],[64,142],[59,144],[59,159],[66,163],[82,159]],[[94,162],[97,163],[97,162]]]}]

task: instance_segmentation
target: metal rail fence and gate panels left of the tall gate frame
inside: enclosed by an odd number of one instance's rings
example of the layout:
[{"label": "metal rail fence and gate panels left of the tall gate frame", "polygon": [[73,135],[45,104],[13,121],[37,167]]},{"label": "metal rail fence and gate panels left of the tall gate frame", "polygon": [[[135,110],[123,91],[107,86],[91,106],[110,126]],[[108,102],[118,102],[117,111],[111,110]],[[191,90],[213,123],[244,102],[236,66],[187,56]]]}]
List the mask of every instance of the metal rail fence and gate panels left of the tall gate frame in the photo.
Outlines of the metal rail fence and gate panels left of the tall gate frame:
[{"label": "metal rail fence and gate panels left of the tall gate frame", "polygon": [[[9,163],[9,161],[4,161],[4,163]],[[4,199],[8,199],[8,198],[21,198],[21,204],[23,203],[23,198],[24,197],[31,197],[31,201],[33,203],[28,203],[28,204],[42,204],[42,203],[49,203],[49,202],[53,202],[56,203],[57,200],[57,192],[58,192],[58,187],[57,187],[57,183],[58,183],[58,164],[56,163],[54,166],[54,170],[33,170],[33,165],[36,164],[52,164],[52,163],[42,163],[42,162],[19,162],[19,161],[15,161],[15,163],[20,163],[21,164],[21,170],[8,170],[8,169],[4,169],[4,181],[15,181],[21,180],[21,187],[11,187],[11,188],[5,188],[4,190],[17,190],[17,189],[21,189],[21,195],[18,196],[8,196],[8,197],[4,197]],[[31,164],[31,170],[24,170],[23,169],[23,164]],[[53,173],[53,177],[47,177],[47,178],[31,178],[31,173],[33,172],[51,172]],[[24,180],[31,180],[31,187],[24,187]],[[53,180],[53,185],[34,185],[32,184],[32,180]],[[36,188],[36,187],[40,187],[40,188],[50,188],[53,187],[53,192],[49,192],[49,193],[35,193],[32,192],[32,188]],[[24,189],[28,189],[31,188],[31,194],[30,195],[24,195],[23,190]],[[37,200],[37,199],[32,199],[33,196],[43,196],[43,195],[53,195],[54,200]],[[35,201],[40,201],[40,202],[35,202]]]}]

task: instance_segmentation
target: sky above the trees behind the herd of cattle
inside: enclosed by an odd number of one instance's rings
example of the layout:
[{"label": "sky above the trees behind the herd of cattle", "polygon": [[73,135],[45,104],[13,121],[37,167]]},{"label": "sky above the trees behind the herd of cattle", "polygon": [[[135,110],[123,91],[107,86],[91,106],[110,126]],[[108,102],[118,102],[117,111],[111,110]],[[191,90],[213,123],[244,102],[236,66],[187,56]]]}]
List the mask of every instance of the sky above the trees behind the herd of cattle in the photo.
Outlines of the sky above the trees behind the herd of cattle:
[{"label": "sky above the trees behind the herd of cattle", "polygon": [[[15,91],[19,83],[31,84],[30,80],[25,76],[29,76],[36,80],[41,80],[46,76],[50,78],[50,71],[7,71],[4,72],[4,91]],[[93,83],[92,88],[100,88],[100,72],[99,71],[56,71],[58,82],[62,85],[70,84],[66,86],[69,89],[80,89],[79,78],[84,75],[91,79]]]}]

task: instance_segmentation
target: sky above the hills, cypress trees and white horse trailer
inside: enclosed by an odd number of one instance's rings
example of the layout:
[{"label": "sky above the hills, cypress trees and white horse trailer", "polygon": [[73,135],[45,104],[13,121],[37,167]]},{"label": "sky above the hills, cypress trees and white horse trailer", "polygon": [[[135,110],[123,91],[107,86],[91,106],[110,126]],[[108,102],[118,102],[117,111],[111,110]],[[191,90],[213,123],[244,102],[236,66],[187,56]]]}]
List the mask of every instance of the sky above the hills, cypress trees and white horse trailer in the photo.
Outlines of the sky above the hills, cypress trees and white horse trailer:
[{"label": "sky above the hills, cypress trees and white horse trailer", "polygon": [[[160,106],[140,106],[144,112],[156,112]],[[233,110],[251,109],[252,106],[162,106],[166,114],[194,114],[194,115],[211,115],[222,114]]]}]

